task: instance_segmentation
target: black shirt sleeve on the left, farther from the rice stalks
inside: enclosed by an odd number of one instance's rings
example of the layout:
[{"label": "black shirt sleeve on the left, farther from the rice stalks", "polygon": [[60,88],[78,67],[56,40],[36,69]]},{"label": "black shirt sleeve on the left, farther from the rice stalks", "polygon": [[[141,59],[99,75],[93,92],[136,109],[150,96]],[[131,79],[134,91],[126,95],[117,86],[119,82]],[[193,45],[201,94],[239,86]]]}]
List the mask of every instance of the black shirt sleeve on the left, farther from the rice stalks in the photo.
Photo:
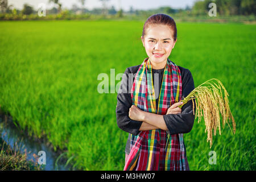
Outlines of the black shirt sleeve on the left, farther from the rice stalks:
[{"label": "black shirt sleeve on the left, farther from the rice stalks", "polygon": [[[129,84],[129,82],[133,83],[133,73],[129,73],[129,69],[126,68],[117,94],[117,107],[115,109],[115,114],[117,117],[117,125],[120,129],[127,133],[138,135],[142,122],[129,118],[129,109],[132,105],[130,94],[132,85]],[[129,79],[131,80],[129,81]]]}]

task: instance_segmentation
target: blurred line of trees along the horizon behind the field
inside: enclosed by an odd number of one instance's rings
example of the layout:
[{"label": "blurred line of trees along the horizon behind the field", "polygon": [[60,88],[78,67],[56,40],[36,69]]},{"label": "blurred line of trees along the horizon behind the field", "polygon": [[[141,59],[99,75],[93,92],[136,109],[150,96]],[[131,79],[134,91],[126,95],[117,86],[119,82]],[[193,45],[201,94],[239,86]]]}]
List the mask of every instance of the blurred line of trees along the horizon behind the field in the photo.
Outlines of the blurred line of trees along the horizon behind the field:
[{"label": "blurred line of trees along the horizon behind the field", "polygon": [[[192,7],[186,6],[185,9],[173,9],[169,6],[163,6],[151,10],[134,10],[130,6],[130,10],[123,11],[122,9],[116,10],[114,6],[110,8],[106,6],[109,0],[98,0],[102,2],[102,8],[94,8],[93,10],[86,9],[85,0],[77,0],[79,5],[74,3],[69,13],[73,14],[152,14],[152,13],[166,13],[166,14],[187,14],[187,15],[207,15],[209,11],[209,4],[215,3],[217,8],[217,15],[255,15],[256,12],[256,0],[201,0],[196,1]],[[47,14],[59,14],[62,11],[62,4],[59,0],[49,0],[48,3],[54,3],[56,7],[47,10]],[[13,5],[9,5],[8,0],[0,0],[1,13],[16,13],[16,14],[36,14],[37,11],[28,4],[23,5],[22,10],[16,10]]]}]

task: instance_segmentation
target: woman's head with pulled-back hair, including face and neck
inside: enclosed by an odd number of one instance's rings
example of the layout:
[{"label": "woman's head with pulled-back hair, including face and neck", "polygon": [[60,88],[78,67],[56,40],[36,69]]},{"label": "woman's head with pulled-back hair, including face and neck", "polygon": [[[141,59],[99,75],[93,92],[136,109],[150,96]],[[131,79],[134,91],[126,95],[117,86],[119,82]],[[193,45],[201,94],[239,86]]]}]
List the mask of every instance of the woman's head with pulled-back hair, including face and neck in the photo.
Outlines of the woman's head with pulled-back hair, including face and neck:
[{"label": "woman's head with pulled-back hair, including face and neck", "polygon": [[174,19],[166,14],[151,15],[144,23],[141,39],[152,67],[164,68],[177,41]]}]

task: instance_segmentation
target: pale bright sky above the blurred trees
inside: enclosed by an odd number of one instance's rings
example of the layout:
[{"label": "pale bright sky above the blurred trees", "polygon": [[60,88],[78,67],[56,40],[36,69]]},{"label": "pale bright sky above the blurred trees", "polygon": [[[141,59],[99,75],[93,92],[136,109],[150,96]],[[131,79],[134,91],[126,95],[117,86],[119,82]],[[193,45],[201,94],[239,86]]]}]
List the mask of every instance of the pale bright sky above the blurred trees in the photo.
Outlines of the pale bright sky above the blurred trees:
[{"label": "pale bright sky above the blurred trees", "polygon": [[[81,6],[79,0],[59,0],[62,4],[63,9],[71,9],[73,4]],[[107,3],[108,7],[114,6],[116,10],[122,7],[123,10],[130,10],[130,6],[133,9],[147,10],[155,9],[160,6],[170,6],[174,9],[185,8],[187,5],[192,6],[196,0],[109,0]],[[46,4],[46,9],[51,9],[54,5],[53,3],[48,3],[49,0],[9,0],[9,5],[13,5],[15,9],[21,10],[24,3],[38,9],[40,3]],[[92,10],[93,8],[102,7],[102,3],[99,0],[85,0],[85,8]]]}]

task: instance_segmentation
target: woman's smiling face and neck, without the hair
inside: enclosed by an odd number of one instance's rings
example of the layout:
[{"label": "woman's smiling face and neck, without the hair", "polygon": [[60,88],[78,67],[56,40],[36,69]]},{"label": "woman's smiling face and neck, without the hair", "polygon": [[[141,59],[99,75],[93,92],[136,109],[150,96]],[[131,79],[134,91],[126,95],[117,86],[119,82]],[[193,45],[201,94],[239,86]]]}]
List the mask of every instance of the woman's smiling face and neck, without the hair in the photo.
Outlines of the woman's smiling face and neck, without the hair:
[{"label": "woman's smiling face and neck, without the hair", "polygon": [[162,69],[166,66],[167,58],[177,41],[174,41],[173,35],[174,31],[167,25],[151,24],[146,30],[144,39],[141,37],[152,68]]}]

